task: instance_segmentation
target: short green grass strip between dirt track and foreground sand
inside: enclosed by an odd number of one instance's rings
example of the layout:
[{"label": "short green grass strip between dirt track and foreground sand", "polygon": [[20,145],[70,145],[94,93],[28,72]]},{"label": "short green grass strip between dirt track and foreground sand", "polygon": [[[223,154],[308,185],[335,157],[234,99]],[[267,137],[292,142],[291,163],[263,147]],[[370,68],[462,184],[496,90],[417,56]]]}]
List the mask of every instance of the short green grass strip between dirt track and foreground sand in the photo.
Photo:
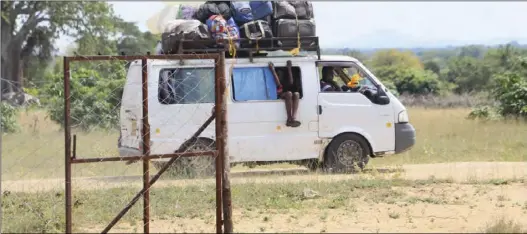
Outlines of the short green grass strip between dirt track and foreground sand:
[{"label": "short green grass strip between dirt track and foreground sand", "polygon": [[[346,180],[339,182],[298,182],[280,184],[243,184],[232,186],[237,210],[268,211],[290,209],[353,210],[352,199],[366,194],[375,202],[389,199],[404,201],[393,187],[419,187],[449,183],[443,180]],[[304,190],[316,191],[315,197]],[[73,199],[75,228],[107,224],[137,193],[136,188],[76,191]],[[152,188],[151,214],[155,219],[204,218],[215,210],[214,186]],[[142,217],[141,200],[123,217],[123,222],[137,222]],[[318,206],[314,205],[318,204]],[[62,232],[64,230],[64,194],[60,192],[15,193],[4,191],[2,197],[2,232]]]}]

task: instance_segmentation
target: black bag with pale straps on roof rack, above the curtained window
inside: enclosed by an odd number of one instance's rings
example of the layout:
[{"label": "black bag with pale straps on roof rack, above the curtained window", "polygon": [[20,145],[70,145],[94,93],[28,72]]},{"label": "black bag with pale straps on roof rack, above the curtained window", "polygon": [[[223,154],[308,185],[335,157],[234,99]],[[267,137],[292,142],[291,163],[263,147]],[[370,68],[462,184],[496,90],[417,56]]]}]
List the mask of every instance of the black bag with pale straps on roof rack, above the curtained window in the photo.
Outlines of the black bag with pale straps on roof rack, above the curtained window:
[{"label": "black bag with pale straps on roof rack, above the curtained window", "polygon": [[[261,38],[273,38],[273,31],[271,30],[271,27],[269,26],[269,23],[265,20],[255,20],[248,23],[243,24],[240,27],[240,36],[241,38],[251,39],[251,40],[258,40]],[[258,43],[258,46],[262,47],[270,47],[272,45],[271,41],[248,41],[241,43],[242,47],[256,47]]]}]

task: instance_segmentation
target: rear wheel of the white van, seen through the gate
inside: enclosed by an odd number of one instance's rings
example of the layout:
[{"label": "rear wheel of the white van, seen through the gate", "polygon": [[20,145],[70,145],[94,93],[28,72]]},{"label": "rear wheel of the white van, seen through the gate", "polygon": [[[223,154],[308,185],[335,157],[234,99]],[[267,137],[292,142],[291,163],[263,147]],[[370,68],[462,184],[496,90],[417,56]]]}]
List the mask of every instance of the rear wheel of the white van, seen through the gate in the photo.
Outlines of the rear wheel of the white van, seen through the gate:
[{"label": "rear wheel of the white van, seen through the gate", "polygon": [[[183,152],[212,151],[216,148],[214,141],[199,138],[183,150]],[[152,162],[156,169],[161,169],[167,162]],[[176,178],[211,177],[216,173],[215,158],[211,156],[195,156],[178,158],[165,172]]]}]

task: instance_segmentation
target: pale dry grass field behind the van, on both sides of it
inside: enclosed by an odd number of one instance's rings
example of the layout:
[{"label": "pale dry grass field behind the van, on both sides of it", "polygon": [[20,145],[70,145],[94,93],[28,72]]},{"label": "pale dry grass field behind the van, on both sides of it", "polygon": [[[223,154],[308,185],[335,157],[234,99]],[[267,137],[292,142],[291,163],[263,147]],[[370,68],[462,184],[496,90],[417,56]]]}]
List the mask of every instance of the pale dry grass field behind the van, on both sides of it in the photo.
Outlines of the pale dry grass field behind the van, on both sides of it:
[{"label": "pale dry grass field behind the van, on both sides of it", "polygon": [[[370,161],[370,166],[461,161],[527,161],[527,124],[467,120],[469,109],[410,108],[417,143],[410,151]],[[61,178],[64,134],[43,111],[23,112],[22,131],[2,139],[3,180]],[[117,156],[118,132],[77,133],[78,157]],[[265,168],[294,167],[289,164]],[[233,171],[245,169],[235,167]],[[73,166],[74,176],[140,175],[140,163],[106,162]]]}]

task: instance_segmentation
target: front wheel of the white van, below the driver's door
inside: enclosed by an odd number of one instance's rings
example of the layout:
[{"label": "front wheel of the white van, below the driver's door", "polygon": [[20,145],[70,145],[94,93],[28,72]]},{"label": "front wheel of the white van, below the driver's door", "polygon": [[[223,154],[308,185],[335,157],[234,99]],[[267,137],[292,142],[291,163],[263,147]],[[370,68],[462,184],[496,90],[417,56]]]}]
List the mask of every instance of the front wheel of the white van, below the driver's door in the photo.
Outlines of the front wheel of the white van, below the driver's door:
[{"label": "front wheel of the white van, below the driver's door", "polygon": [[331,173],[358,172],[366,167],[370,155],[368,142],[362,136],[342,134],[328,145],[322,169]]}]

